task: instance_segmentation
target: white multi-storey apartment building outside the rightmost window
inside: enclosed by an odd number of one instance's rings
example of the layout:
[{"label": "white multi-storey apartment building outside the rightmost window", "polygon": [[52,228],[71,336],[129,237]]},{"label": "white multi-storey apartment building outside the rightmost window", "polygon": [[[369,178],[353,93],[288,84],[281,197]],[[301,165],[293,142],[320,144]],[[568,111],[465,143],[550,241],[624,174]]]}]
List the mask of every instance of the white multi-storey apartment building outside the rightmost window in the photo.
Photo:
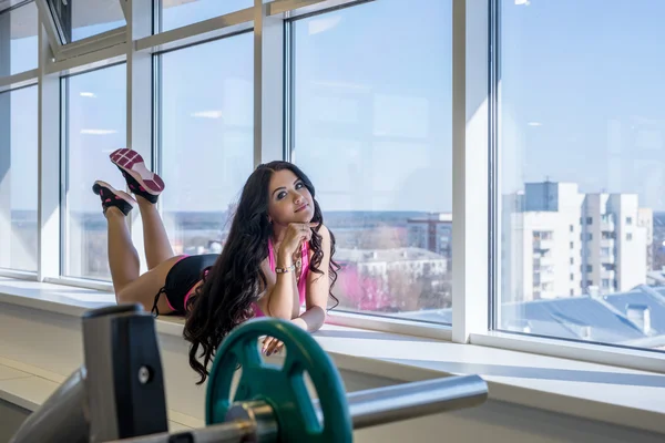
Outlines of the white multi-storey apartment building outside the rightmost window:
[{"label": "white multi-storey apartment building outside the rightmost window", "polygon": [[627,291],[646,282],[651,212],[634,194],[581,194],[572,183],[526,184],[504,198],[502,300]]}]

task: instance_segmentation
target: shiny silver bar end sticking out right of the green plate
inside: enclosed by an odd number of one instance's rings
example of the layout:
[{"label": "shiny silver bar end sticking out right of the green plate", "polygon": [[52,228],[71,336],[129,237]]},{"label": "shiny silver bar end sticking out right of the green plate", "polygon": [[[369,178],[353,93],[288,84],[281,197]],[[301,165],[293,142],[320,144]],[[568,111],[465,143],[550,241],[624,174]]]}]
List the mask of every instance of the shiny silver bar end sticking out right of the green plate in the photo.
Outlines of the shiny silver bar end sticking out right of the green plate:
[{"label": "shiny silver bar end sticking out right of the green plate", "polygon": [[[488,398],[478,375],[449,377],[347,394],[354,430],[472,408]],[[315,408],[320,419],[318,402]]]}]

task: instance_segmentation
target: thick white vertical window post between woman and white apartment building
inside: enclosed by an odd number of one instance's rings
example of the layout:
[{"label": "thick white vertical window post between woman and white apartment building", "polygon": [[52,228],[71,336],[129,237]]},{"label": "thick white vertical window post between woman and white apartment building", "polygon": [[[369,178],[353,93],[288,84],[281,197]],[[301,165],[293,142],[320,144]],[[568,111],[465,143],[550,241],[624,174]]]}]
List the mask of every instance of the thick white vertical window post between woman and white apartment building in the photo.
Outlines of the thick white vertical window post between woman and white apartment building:
[{"label": "thick white vertical window post between woman and white apartment building", "polygon": [[452,340],[488,330],[489,0],[452,2]]}]

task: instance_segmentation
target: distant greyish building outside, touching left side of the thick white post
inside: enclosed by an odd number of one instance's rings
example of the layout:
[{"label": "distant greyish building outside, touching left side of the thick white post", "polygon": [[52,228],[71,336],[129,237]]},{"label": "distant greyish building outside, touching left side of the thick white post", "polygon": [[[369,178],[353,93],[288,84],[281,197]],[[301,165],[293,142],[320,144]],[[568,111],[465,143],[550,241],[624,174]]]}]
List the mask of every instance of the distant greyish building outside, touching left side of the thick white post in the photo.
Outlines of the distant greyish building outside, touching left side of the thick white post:
[{"label": "distant greyish building outside, touching left side of the thick white post", "polygon": [[452,214],[430,214],[428,217],[409,218],[409,246],[427,249],[447,260],[447,271],[452,270]]}]

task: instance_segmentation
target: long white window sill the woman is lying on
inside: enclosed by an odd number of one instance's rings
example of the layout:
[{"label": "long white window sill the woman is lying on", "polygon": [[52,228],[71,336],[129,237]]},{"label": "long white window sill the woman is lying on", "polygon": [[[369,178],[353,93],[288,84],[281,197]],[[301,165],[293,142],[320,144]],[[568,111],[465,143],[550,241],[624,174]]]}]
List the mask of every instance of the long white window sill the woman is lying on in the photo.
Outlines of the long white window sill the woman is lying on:
[{"label": "long white window sill the woman is lying on", "polygon": [[[79,317],[113,302],[109,292],[0,278],[0,303]],[[182,324],[156,322],[176,337]],[[479,374],[494,400],[665,434],[665,374],[331,324],[315,337],[342,370],[402,381]]]}]

